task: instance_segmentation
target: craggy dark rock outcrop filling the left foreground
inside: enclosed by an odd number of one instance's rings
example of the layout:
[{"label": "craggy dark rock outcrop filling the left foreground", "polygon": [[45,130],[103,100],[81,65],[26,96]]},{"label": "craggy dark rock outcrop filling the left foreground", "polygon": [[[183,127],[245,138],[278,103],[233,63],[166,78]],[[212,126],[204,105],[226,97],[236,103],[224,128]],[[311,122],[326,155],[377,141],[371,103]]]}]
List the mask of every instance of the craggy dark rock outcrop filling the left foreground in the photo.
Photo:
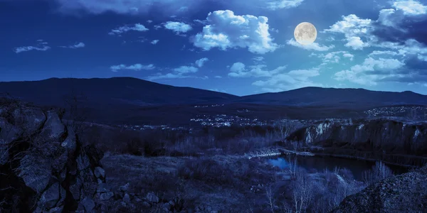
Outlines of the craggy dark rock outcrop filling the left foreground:
[{"label": "craggy dark rock outcrop filling the left foreground", "polygon": [[106,187],[102,153],[61,111],[0,100],[0,212],[93,212]]}]

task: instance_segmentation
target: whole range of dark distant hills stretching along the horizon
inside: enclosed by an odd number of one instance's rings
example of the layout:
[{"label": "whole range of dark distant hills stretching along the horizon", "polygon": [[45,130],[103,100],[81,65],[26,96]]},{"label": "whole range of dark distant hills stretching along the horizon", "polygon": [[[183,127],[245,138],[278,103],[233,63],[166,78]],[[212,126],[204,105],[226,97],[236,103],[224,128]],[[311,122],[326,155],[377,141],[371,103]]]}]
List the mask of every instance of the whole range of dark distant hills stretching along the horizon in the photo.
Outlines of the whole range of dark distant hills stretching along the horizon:
[{"label": "whole range of dark distant hills stretching along the horizon", "polygon": [[[0,94],[38,105],[68,107],[78,97],[79,107],[92,121],[103,123],[184,123],[200,114],[229,114],[248,118],[322,119],[363,116],[364,110],[390,105],[427,105],[427,96],[414,92],[376,92],[367,89],[305,87],[286,92],[238,97],[191,87],[174,87],[132,77],[107,79],[51,78],[40,81],[0,82]],[[195,104],[225,104],[194,107]],[[237,111],[248,109],[250,113]]]}]

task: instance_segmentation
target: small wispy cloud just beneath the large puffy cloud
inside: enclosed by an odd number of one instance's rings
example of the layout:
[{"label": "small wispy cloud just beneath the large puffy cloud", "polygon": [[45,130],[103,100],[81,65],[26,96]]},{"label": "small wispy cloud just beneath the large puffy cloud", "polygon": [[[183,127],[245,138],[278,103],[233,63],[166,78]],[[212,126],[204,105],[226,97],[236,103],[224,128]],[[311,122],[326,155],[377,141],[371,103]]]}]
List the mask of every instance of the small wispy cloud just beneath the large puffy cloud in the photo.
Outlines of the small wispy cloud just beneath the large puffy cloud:
[{"label": "small wispy cloud just beneath the large puffy cloud", "polygon": [[242,62],[235,62],[230,67],[228,76],[230,77],[272,77],[275,74],[283,72],[286,66],[277,67],[274,70],[266,70],[267,65],[252,65],[246,69]]}]

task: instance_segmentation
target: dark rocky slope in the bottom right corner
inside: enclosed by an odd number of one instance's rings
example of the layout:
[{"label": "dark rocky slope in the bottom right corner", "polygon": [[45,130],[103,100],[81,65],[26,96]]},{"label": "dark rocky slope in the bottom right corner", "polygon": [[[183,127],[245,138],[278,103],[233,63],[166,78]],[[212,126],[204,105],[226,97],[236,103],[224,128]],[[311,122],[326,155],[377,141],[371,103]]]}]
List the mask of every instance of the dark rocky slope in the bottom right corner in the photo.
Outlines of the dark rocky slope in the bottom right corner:
[{"label": "dark rocky slope in the bottom right corner", "polygon": [[369,185],[346,197],[334,213],[425,212],[427,167]]}]

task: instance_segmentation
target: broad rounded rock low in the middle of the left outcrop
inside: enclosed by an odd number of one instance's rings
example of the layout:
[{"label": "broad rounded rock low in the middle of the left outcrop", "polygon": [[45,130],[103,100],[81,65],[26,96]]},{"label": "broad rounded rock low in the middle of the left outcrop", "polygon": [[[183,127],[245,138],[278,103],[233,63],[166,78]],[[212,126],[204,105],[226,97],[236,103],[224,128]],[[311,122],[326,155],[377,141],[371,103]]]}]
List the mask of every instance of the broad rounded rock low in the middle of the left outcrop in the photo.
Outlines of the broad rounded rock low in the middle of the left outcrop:
[{"label": "broad rounded rock low in the middle of the left outcrop", "polygon": [[21,171],[19,177],[26,186],[41,193],[48,186],[51,179],[51,163],[41,156],[28,154],[21,159]]}]

